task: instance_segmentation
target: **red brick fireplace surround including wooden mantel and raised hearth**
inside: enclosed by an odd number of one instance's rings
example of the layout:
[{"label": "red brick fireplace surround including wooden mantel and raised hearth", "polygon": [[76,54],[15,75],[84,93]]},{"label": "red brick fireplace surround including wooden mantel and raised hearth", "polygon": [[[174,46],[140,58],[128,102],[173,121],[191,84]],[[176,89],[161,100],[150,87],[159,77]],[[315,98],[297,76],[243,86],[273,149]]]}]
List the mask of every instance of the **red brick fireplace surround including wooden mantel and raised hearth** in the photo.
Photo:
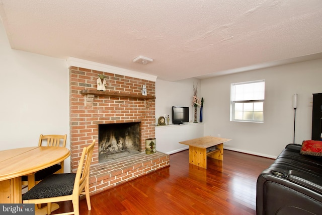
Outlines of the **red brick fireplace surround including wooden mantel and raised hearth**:
[{"label": "red brick fireplace surround including wooden mantel and raised hearth", "polygon": [[[106,91],[96,90],[99,74],[106,76]],[[147,96],[141,95],[143,85]],[[91,164],[91,194],[169,166],[169,155],[145,154],[145,139],[155,137],[155,82],[70,66],[69,95],[72,172],[77,169],[82,149],[93,139],[97,143]],[[140,153],[99,163],[99,124],[133,122],[140,126]]]}]

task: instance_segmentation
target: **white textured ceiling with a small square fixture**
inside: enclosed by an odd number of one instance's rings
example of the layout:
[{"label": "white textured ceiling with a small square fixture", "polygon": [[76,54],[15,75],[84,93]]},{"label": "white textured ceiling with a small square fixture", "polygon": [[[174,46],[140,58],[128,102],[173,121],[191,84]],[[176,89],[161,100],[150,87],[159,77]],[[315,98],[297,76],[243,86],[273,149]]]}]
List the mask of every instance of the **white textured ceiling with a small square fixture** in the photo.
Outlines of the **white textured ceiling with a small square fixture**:
[{"label": "white textured ceiling with a small square fixture", "polygon": [[166,81],[322,57],[321,0],[0,0],[0,16],[13,49]]}]

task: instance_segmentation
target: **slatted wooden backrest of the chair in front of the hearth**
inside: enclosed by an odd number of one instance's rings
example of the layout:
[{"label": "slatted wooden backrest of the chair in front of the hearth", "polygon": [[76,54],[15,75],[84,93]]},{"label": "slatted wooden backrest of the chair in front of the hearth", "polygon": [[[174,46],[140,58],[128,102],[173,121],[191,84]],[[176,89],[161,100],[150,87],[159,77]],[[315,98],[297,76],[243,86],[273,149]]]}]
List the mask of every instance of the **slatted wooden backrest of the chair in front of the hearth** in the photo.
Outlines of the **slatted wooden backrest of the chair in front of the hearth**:
[{"label": "slatted wooden backrest of the chair in front of the hearth", "polygon": [[84,187],[89,185],[89,178],[90,178],[90,165],[92,161],[93,151],[94,151],[95,140],[93,140],[92,144],[88,147],[84,147],[81,160],[79,160],[74,188],[73,188],[73,195],[78,196]]}]

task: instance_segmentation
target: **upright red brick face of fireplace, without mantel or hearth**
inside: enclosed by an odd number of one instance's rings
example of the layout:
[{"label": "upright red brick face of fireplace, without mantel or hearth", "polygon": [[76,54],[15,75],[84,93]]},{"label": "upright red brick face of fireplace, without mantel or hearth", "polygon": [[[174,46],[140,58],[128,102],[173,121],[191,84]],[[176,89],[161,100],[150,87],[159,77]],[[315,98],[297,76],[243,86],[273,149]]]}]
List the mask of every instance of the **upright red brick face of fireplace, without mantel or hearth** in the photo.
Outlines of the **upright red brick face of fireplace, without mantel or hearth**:
[{"label": "upright red brick face of fireplace, without mantel or hearth", "polygon": [[[141,122],[141,151],[145,139],[155,137],[155,100],[82,95],[81,90],[96,90],[98,74],[107,76],[107,91],[141,94],[146,85],[147,94],[155,96],[155,82],[104,73],[80,67],[69,68],[69,117],[71,170],[77,169],[84,146],[93,139],[98,142],[98,124]],[[93,164],[98,164],[98,145],[95,146]]]}]

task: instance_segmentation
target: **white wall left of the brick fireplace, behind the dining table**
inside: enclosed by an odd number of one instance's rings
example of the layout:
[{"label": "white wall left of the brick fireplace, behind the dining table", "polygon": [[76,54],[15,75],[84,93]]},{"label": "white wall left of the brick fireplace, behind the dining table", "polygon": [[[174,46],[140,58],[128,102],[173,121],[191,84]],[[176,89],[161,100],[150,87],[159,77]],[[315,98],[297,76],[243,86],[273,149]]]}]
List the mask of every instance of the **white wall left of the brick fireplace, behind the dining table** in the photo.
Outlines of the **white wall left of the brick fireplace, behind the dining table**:
[{"label": "white wall left of the brick fireplace, behind the dining table", "polygon": [[37,146],[40,134],[69,137],[65,60],[11,49],[2,22],[0,47],[0,150]]}]

